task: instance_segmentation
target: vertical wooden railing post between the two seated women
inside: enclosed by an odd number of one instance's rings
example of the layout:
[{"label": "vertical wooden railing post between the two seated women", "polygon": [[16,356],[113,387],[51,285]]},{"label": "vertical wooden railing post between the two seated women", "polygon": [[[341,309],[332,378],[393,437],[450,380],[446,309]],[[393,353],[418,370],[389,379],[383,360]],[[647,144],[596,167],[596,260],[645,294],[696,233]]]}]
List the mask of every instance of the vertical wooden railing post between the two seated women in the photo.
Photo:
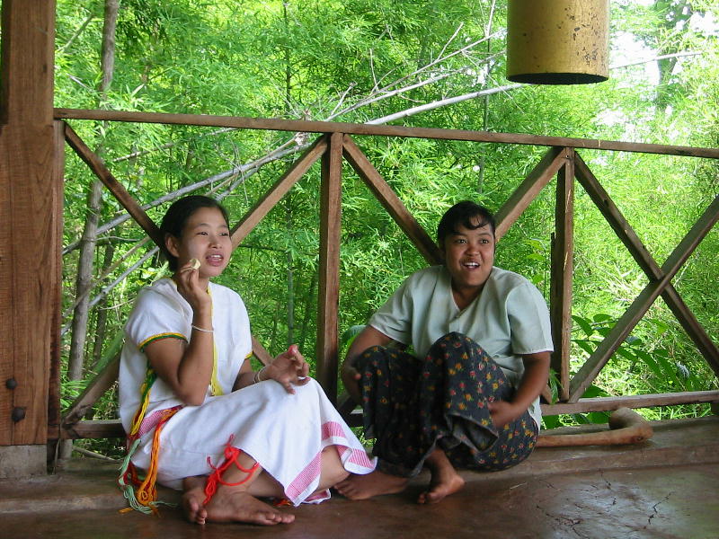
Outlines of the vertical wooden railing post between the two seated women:
[{"label": "vertical wooden railing post between the two seated women", "polygon": [[320,273],[317,298],[317,381],[337,401],[340,307],[340,223],[342,218],[342,133],[328,135],[322,157]]}]

